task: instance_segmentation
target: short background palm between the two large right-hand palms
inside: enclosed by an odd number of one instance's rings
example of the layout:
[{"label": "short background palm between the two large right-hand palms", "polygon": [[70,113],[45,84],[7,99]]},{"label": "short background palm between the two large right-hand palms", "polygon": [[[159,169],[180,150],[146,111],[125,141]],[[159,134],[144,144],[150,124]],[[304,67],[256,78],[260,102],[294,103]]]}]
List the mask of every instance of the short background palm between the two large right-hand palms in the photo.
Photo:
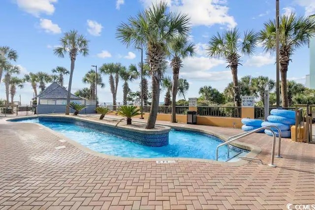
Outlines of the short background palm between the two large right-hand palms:
[{"label": "short background palm between the two large right-hand palms", "polygon": [[268,77],[259,76],[257,78],[252,78],[252,87],[255,90],[255,96],[259,96],[263,105],[265,105],[265,88],[269,87],[272,90],[275,87],[276,82]]}]

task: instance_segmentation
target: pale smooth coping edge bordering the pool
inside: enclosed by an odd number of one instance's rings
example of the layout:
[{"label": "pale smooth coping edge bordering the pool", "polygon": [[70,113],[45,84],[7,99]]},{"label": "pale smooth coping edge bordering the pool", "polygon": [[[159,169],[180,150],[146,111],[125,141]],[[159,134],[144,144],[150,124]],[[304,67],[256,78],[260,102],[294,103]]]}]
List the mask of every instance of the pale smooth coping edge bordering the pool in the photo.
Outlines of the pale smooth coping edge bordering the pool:
[{"label": "pale smooth coping edge bordering the pool", "polygon": [[[15,121],[11,121],[12,119],[35,119],[35,118],[38,118],[38,116],[43,116],[43,115],[4,118],[4,120],[6,122],[14,123]],[[74,116],[64,116],[63,115],[62,117],[77,119],[77,117],[79,117],[79,116],[74,117]],[[92,116],[88,116],[88,117],[92,117]],[[95,118],[95,117],[92,117],[92,118]],[[113,119],[113,118],[111,118],[111,119]],[[97,122],[95,120],[89,120],[89,119],[81,119],[81,120]],[[136,120],[134,120],[134,121],[136,121]],[[144,122],[140,122],[140,121],[136,121],[136,122],[137,123],[144,123]],[[29,123],[29,122],[24,122],[24,123]],[[98,123],[106,124],[104,122],[98,122]],[[137,157],[120,157],[120,156],[115,156],[115,155],[108,155],[108,154],[103,154],[103,153],[97,152],[95,150],[91,150],[91,149],[81,145],[80,143],[78,143],[78,142],[76,142],[70,138],[67,138],[63,134],[58,133],[57,131],[54,131],[54,130],[52,130],[52,129],[50,129],[50,128],[42,125],[42,124],[39,124],[39,123],[33,123],[33,124],[38,125],[39,127],[53,133],[54,135],[60,137],[61,139],[67,141],[71,145],[73,145],[73,146],[75,146],[75,147],[77,147],[77,148],[79,148],[79,149],[81,149],[87,153],[93,154],[93,155],[98,156],[98,157],[107,158],[107,159],[115,159],[115,160],[120,160],[120,161],[165,161],[165,160],[168,160],[168,161],[170,161],[170,160],[174,160],[174,161],[197,161],[197,162],[209,162],[209,163],[216,163],[216,164],[229,165],[229,166],[241,166],[241,165],[245,165],[249,162],[248,160],[245,160],[245,159],[240,159],[240,160],[234,161],[234,162],[223,162],[223,161],[210,160],[210,159],[187,158],[187,157],[137,158]],[[160,124],[158,124],[158,125],[160,126]],[[168,125],[167,127],[180,129],[180,130],[201,132],[201,133],[213,135],[217,138],[220,138],[224,142],[226,142],[228,139],[228,137],[225,135],[213,133],[213,132],[207,131],[205,129],[189,128],[189,127],[184,127],[184,126],[180,126],[180,125]],[[234,147],[238,147],[238,148],[243,149],[243,150],[249,150],[249,153],[246,155],[246,157],[255,157],[256,155],[258,155],[261,152],[261,148],[259,148],[257,146],[238,142],[238,141],[234,141],[230,145],[232,145]]]}]

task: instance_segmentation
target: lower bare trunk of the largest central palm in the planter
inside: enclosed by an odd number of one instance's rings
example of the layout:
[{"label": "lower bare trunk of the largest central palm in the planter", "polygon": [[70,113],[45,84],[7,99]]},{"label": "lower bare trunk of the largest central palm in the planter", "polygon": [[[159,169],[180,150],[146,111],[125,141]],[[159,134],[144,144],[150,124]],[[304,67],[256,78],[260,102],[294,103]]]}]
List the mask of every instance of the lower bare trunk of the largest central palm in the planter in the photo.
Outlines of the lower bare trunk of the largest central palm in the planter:
[{"label": "lower bare trunk of the largest central palm in the planter", "polygon": [[155,127],[158,116],[159,92],[158,78],[152,75],[152,104],[146,129],[153,129]]}]

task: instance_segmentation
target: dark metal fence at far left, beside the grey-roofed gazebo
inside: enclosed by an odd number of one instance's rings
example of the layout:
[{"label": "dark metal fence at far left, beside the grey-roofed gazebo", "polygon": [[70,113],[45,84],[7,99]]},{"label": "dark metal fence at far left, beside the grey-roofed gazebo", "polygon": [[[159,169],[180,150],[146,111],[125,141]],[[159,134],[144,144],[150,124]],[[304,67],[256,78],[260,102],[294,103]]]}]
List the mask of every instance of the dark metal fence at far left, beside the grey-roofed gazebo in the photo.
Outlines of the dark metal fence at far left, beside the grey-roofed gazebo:
[{"label": "dark metal fence at far left, beside the grey-roofed gazebo", "polygon": [[0,105],[0,117],[34,115],[36,106],[32,105]]}]

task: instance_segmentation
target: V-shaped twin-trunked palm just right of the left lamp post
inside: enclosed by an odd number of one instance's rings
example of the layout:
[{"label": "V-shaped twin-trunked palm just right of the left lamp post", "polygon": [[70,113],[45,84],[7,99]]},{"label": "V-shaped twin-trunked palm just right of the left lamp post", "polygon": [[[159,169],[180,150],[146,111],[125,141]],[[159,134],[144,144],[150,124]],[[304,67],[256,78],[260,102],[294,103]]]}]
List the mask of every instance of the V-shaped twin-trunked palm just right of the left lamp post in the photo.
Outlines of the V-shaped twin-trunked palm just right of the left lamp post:
[{"label": "V-shaped twin-trunked palm just right of the left lamp post", "polygon": [[116,96],[117,96],[117,89],[119,83],[119,77],[122,71],[126,70],[126,67],[123,66],[121,63],[104,63],[100,68],[99,71],[105,75],[109,75],[109,85],[110,91],[113,95],[113,110],[116,110]]}]

